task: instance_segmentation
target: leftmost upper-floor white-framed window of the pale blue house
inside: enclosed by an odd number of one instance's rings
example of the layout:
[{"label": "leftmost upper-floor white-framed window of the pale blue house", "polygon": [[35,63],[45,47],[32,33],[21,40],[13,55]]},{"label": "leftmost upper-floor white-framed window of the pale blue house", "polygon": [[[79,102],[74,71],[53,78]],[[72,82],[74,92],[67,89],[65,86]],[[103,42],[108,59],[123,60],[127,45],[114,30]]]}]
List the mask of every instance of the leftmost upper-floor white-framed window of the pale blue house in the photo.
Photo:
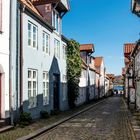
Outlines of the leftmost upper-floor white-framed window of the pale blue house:
[{"label": "leftmost upper-floor white-framed window of the pale blue house", "polygon": [[37,26],[28,22],[28,46],[37,49]]}]

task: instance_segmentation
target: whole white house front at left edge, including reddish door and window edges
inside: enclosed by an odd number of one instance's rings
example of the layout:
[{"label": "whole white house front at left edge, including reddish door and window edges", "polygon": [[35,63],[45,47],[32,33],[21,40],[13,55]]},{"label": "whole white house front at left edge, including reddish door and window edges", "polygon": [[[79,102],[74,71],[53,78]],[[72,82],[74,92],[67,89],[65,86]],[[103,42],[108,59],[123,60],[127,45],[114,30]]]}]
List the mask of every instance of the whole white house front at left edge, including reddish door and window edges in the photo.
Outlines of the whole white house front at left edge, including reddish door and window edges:
[{"label": "whole white house front at left edge, including reddish door and window edges", "polygon": [[[4,8],[3,8],[4,7]],[[0,0],[0,117],[9,117],[10,0]],[[8,101],[8,102],[7,102]]]}]

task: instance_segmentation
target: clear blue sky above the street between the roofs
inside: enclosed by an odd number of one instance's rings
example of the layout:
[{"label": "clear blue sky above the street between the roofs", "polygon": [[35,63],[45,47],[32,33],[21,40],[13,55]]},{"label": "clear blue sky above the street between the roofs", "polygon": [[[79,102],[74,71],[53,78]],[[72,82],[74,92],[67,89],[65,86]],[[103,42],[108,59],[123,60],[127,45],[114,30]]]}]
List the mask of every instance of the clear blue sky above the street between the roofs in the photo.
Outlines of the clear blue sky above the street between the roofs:
[{"label": "clear blue sky above the street between the roofs", "polygon": [[131,0],[70,0],[63,34],[80,44],[93,43],[94,56],[103,56],[107,73],[121,74],[123,44],[140,37],[140,19],[131,13]]}]

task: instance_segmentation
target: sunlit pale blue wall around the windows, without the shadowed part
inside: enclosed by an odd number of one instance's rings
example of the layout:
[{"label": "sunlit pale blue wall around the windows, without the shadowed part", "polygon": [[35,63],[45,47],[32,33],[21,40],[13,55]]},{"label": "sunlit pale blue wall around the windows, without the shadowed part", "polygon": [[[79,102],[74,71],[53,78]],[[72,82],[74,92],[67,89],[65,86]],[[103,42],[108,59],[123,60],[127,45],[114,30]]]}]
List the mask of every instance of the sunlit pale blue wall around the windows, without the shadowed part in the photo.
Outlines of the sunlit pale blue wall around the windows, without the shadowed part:
[{"label": "sunlit pale blue wall around the windows, without the shadowed part", "polygon": [[[61,36],[59,36],[56,33],[51,33],[48,29],[46,29],[44,26],[40,25],[37,21],[32,19],[30,16],[26,15],[24,13],[23,15],[23,93],[24,93],[24,101],[28,100],[28,85],[27,85],[27,72],[28,68],[33,68],[38,71],[38,95],[42,94],[43,88],[42,88],[42,73],[43,71],[49,71],[51,68],[51,64],[54,58],[54,39],[57,39],[60,41],[60,58],[57,59],[59,69],[60,69],[60,81],[62,82],[62,76],[66,75],[66,60],[63,59],[62,56],[62,45],[65,44],[61,40]],[[38,28],[38,49],[33,49],[28,46],[28,21],[35,24]],[[42,33],[45,31],[50,35],[50,54],[45,54],[42,51]],[[66,45],[66,44],[65,44]]]}]

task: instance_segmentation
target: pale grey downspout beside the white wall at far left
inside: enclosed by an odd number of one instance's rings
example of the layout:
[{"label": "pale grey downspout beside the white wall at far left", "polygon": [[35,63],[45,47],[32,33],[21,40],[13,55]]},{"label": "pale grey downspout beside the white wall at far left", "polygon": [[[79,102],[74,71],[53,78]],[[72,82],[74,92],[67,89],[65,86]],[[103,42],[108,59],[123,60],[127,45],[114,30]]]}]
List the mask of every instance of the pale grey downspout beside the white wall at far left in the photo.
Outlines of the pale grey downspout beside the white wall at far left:
[{"label": "pale grey downspout beside the white wall at far left", "polygon": [[13,27],[13,1],[10,1],[10,17],[9,17],[9,111],[10,111],[10,123],[13,125],[13,107],[12,107],[12,27]]}]

